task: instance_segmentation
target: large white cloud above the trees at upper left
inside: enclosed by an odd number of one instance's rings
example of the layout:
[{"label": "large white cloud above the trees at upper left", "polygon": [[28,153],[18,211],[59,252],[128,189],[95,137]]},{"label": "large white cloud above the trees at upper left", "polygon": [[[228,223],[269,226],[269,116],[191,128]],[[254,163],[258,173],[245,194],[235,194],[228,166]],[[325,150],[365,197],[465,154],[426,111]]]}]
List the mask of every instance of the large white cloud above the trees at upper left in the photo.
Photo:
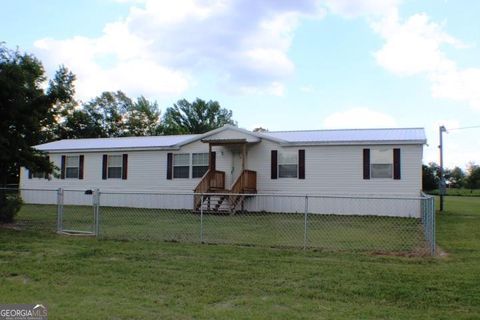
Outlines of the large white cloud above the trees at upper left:
[{"label": "large white cloud above the trees at upper left", "polygon": [[162,66],[145,53],[147,42],[128,33],[121,24],[107,25],[104,35],[89,39],[42,39],[37,55],[52,69],[65,64],[77,76],[77,97],[90,99],[102,91],[155,97],[180,94],[188,88],[186,72]]}]

